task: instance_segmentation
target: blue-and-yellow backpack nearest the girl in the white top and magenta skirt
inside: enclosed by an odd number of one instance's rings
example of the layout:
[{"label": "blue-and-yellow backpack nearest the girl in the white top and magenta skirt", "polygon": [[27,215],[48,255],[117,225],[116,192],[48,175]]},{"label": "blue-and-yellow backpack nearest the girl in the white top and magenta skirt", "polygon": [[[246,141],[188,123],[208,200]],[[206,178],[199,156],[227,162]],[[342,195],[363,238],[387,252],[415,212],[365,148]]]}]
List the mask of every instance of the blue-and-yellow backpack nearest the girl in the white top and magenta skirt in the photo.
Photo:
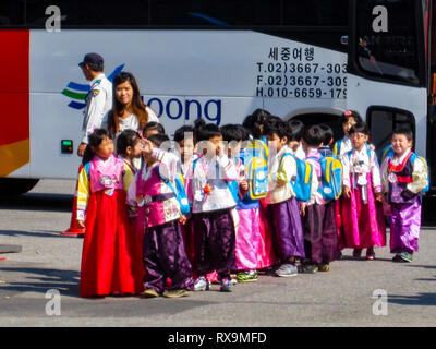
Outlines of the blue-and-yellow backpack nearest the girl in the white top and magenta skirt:
[{"label": "blue-and-yellow backpack nearest the girl in the white top and magenta skirt", "polygon": [[342,194],[342,164],[336,156],[322,156],[319,161],[323,181],[319,183],[318,192],[326,201],[337,200]]}]

